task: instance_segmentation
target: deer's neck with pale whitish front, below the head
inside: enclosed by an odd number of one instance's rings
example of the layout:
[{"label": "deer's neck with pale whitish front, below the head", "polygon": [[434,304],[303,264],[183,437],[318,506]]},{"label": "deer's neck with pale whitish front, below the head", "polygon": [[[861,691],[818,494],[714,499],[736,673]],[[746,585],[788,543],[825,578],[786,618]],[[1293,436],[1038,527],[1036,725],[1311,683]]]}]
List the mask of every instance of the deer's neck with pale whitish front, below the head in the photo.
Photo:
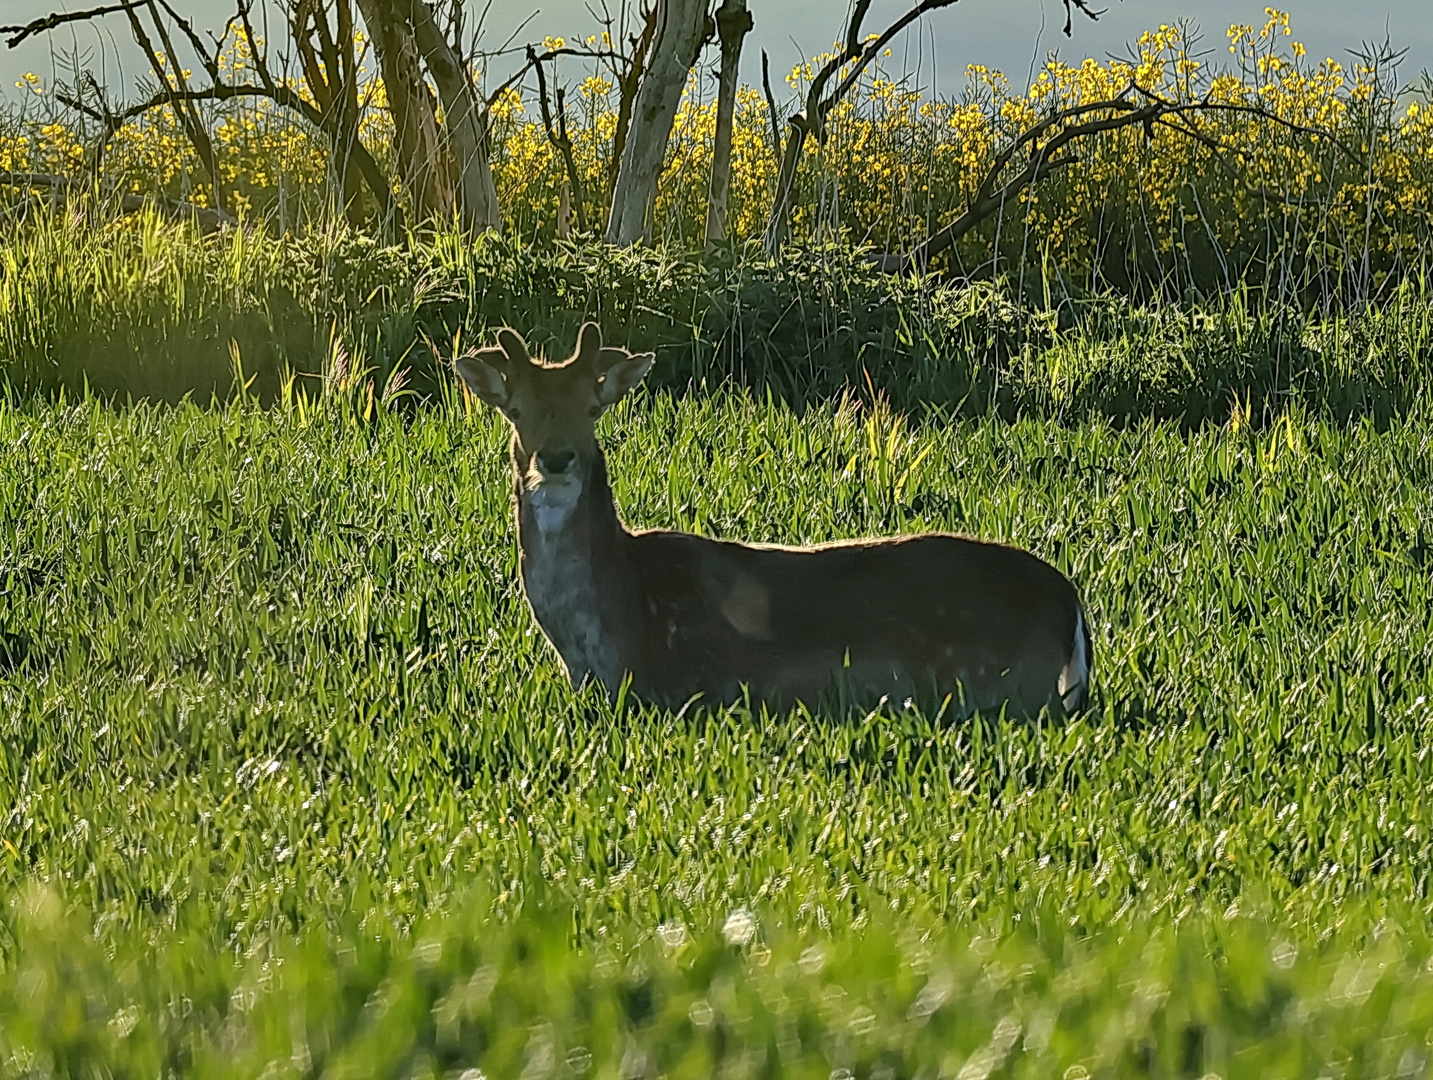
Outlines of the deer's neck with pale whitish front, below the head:
[{"label": "deer's neck with pale whitish front, below the head", "polygon": [[609,690],[620,682],[626,537],[600,447],[575,494],[517,476],[523,589],[573,686],[588,676]]}]

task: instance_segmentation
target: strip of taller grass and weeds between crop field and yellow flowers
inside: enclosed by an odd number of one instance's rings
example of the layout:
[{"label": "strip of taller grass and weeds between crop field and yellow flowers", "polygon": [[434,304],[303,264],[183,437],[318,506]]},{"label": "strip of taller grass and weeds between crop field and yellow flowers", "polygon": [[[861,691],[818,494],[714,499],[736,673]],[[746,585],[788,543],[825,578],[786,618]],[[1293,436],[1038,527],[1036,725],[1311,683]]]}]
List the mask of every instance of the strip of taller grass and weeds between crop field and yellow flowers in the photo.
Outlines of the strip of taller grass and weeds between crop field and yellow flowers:
[{"label": "strip of taller grass and weeds between crop field and yellow flowers", "polygon": [[203,241],[136,215],[42,218],[0,235],[0,377],[53,398],[208,402],[236,378],[262,401],[317,395],[335,357],[437,398],[454,335],[514,325],[555,354],[598,318],[658,352],[678,392],[732,384],[795,408],[848,387],[947,415],[1188,425],[1257,420],[1298,398],[1341,420],[1404,413],[1433,371],[1433,296],[1407,279],[1377,305],[1304,312],[1235,289],[1142,307],[878,274],[835,246],[771,262],[456,235],[384,246],[334,228]]}]

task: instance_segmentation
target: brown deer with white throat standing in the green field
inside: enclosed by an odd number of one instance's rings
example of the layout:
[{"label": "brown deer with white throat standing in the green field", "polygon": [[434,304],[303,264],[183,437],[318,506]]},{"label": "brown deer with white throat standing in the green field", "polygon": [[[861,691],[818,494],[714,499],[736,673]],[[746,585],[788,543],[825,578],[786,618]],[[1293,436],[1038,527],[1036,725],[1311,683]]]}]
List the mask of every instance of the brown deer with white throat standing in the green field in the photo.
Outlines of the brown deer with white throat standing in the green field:
[{"label": "brown deer with white throat standing in the green field", "polygon": [[512,424],[522,580],[573,688],[625,679],[676,708],[745,692],[815,705],[861,696],[1033,713],[1083,706],[1091,639],[1070,582],[1027,551],[926,533],[815,547],[629,531],[598,417],[646,375],[651,352],[605,348],[596,324],[563,362],[512,329],[457,360]]}]

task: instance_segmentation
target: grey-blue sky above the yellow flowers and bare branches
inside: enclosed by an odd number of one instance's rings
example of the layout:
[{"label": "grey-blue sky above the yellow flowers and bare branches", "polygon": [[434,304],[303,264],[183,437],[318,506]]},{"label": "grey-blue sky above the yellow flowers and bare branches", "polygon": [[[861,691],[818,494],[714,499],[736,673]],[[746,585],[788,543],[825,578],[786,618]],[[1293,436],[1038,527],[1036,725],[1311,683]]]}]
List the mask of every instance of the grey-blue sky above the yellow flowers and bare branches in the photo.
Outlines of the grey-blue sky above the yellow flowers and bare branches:
[{"label": "grey-blue sky above the yellow flowers and bare branches", "polygon": [[[623,0],[606,0],[613,11]],[[635,3],[635,0],[628,0]],[[954,6],[936,11],[894,42],[891,66],[914,73],[919,85],[936,93],[957,93],[964,80],[966,64],[982,63],[1006,72],[1012,83],[1025,85],[1032,67],[1048,50],[1058,50],[1066,60],[1085,56],[1108,57],[1125,54],[1141,30],[1194,20],[1204,32],[1204,49],[1209,59],[1228,56],[1224,32],[1231,23],[1264,23],[1268,0],[1096,0],[1105,9],[1098,21],[1076,16],[1073,37],[1062,33],[1065,9],[1060,0],[959,0]],[[234,0],[172,0],[173,6],[191,16],[198,29],[219,29],[234,13]],[[262,3],[262,0],[261,0]],[[484,0],[467,0],[470,10],[479,11]],[[871,30],[884,29],[911,0],[876,0],[867,17]],[[0,24],[24,23],[52,11],[82,10],[93,0],[0,0]],[[782,76],[802,56],[830,49],[845,23],[845,0],[749,0],[755,27],[747,39],[742,76],[758,85],[761,50],[771,56],[772,83],[784,89]],[[1348,50],[1361,43],[1391,39],[1407,49],[1400,69],[1404,80],[1413,80],[1423,70],[1433,70],[1433,0],[1285,0],[1293,16],[1294,40],[1303,42],[1314,57],[1331,56],[1347,62]],[[545,34],[567,39],[595,33],[599,29],[592,10],[600,10],[602,0],[492,0],[484,23],[483,46],[496,47],[514,32],[519,42],[540,40]],[[49,86],[56,74],[56,63],[66,64],[64,54],[75,50],[83,56],[99,80],[116,92],[132,95],[133,82],[148,64],[139,60],[129,40],[122,14],[112,14],[95,26],[72,24],[49,39],[32,39],[19,49],[0,46],[0,87],[11,100],[20,92],[11,89],[26,72],[42,77]],[[56,56],[59,54],[59,57]],[[715,50],[708,60],[715,62]],[[506,62],[512,63],[512,62]],[[504,62],[492,64],[502,73]]]}]

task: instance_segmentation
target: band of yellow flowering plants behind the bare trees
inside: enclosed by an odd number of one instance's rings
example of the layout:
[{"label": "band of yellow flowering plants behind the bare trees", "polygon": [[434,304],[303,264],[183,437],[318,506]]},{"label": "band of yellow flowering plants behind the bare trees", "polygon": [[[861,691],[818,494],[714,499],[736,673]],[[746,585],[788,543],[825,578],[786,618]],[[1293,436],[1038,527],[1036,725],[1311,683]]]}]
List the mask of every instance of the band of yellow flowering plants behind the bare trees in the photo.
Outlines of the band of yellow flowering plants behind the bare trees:
[{"label": "band of yellow flowering plants behind the bare trees", "polygon": [[[1052,59],[1025,90],[999,72],[972,66],[963,93],[950,100],[924,97],[877,62],[833,110],[825,139],[808,146],[795,235],[910,246],[970,205],[1002,146],[1058,110],[1119,96],[1142,105],[1158,95],[1181,109],[1152,126],[1070,142],[1060,150],[1068,162],[1035,188],[1012,193],[997,215],[963,238],[956,262],[1000,265],[1035,256],[1068,275],[1119,279],[1178,274],[1181,261],[1201,259],[1234,275],[1238,265],[1267,258],[1280,245],[1287,252],[1290,244],[1301,252],[1298,272],[1338,264],[1340,251],[1357,251],[1364,265],[1377,264],[1381,272],[1416,259],[1419,246],[1427,246],[1433,205],[1433,106],[1400,105],[1390,73],[1377,62],[1347,69],[1331,59],[1311,62],[1291,40],[1288,14],[1264,14],[1261,26],[1230,27],[1232,62],[1218,70],[1195,57],[1184,26],[1142,34],[1123,60]],[[560,49],[565,40],[550,37],[545,46]],[[242,80],[255,47],[236,33],[221,66]],[[791,90],[804,95],[833,54],[794,67],[787,76]],[[363,138],[401,195],[383,85],[377,76],[364,77]],[[42,89],[32,76],[21,85]],[[292,87],[310,96],[302,80]],[[709,80],[694,79],[676,115],[656,208],[663,238],[694,241],[702,233],[716,112],[704,87]],[[618,89],[586,70],[575,90],[567,127],[576,185],[522,90],[504,92],[492,109],[494,179],[510,226],[522,235],[556,228],[565,189],[582,199],[590,223],[605,215]],[[1052,126],[1007,175],[1068,125],[1105,115]],[[221,180],[238,206],[269,213],[287,201],[317,212],[331,202],[335,178],[327,140],[292,113],[251,97],[209,106],[205,116]],[[782,138],[791,138],[790,129]],[[765,99],[751,87],[738,95],[732,139],[728,231],[755,236],[778,159]],[[0,168],[75,173],[83,166],[76,132],[54,115],[0,130]],[[128,189],[206,198],[195,179],[203,170],[169,109],[122,127],[105,168]]]}]

